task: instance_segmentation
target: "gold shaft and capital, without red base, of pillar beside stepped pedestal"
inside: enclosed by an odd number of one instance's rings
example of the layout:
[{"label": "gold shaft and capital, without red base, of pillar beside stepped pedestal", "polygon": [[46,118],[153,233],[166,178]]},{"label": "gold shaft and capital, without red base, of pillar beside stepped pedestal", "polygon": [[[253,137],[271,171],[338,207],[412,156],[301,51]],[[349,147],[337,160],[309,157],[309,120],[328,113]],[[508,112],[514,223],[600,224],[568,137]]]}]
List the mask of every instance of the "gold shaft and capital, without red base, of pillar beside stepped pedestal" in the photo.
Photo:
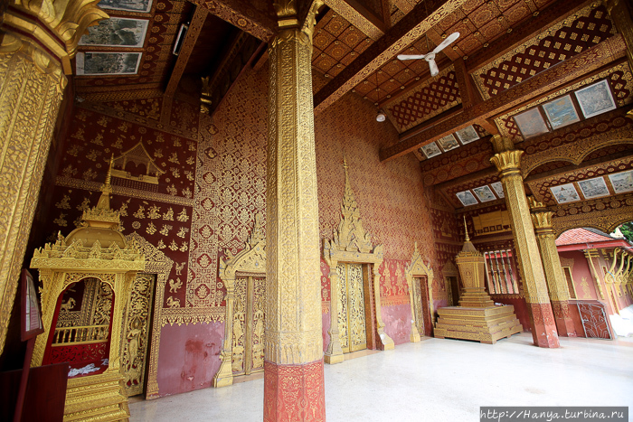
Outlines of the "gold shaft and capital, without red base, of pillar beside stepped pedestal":
[{"label": "gold shaft and capital, without red base, of pillar beside stepped pedestal", "polygon": [[515,239],[519,271],[524,280],[525,301],[530,304],[549,304],[543,264],[530,218],[530,208],[525,197],[520,160],[523,151],[502,151],[490,161],[499,171],[504,186],[505,204],[510,215]]}]

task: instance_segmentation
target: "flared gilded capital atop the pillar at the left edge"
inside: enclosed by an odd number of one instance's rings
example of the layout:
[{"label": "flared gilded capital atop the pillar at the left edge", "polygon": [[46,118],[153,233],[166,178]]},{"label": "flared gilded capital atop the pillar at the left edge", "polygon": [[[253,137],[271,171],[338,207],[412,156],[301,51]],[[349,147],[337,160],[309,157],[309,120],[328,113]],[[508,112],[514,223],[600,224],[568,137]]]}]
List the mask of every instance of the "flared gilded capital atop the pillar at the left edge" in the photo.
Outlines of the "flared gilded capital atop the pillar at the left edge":
[{"label": "flared gilded capital atop the pillar at the left edge", "polygon": [[[89,26],[109,18],[99,0],[9,0],[0,29],[9,34],[0,51],[16,51],[29,44],[52,55],[71,74],[71,58]],[[42,48],[43,46],[43,48]]]}]

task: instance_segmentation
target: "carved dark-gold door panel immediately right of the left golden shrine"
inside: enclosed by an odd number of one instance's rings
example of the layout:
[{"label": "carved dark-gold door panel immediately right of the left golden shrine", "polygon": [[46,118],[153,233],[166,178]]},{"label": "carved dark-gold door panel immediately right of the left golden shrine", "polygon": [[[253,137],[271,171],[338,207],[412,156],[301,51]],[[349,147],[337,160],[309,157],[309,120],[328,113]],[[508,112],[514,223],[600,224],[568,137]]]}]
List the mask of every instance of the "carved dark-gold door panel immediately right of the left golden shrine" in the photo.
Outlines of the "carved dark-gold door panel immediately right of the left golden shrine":
[{"label": "carved dark-gold door panel immediately right of the left golden shrine", "polygon": [[121,372],[128,397],[143,394],[155,284],[156,275],[138,273],[128,297],[121,333]]}]

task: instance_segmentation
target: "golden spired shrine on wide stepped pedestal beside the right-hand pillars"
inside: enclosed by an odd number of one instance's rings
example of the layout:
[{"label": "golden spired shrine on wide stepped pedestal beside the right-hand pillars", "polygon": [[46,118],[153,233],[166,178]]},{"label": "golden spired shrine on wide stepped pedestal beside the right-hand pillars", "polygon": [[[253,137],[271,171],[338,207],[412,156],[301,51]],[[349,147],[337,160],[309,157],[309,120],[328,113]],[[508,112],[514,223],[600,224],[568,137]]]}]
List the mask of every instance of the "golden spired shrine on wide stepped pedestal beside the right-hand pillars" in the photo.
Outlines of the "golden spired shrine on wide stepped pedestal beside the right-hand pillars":
[{"label": "golden spired shrine on wide stepped pedestal beside the right-hand pillars", "polygon": [[[466,226],[466,221],[464,221]],[[455,258],[464,290],[459,306],[438,309],[435,337],[476,340],[494,344],[497,340],[521,333],[522,325],[512,305],[495,306],[484,289],[485,258],[468,238]]]}]

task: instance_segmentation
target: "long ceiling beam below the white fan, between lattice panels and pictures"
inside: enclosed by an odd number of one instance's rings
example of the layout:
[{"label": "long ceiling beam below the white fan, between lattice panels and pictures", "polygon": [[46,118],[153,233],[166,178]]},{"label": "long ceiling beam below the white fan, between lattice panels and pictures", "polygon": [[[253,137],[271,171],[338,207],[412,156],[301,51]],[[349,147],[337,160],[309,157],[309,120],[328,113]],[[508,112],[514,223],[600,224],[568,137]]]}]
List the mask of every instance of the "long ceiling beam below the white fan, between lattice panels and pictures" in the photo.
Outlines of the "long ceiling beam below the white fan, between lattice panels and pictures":
[{"label": "long ceiling beam below the white fan, between lattice panels and pictures", "polygon": [[477,123],[481,119],[494,117],[501,112],[507,113],[512,109],[521,107],[528,101],[534,101],[534,99],[542,98],[560,89],[562,85],[572,80],[582,80],[586,78],[587,73],[599,70],[611,62],[621,59],[625,54],[626,44],[622,36],[617,34],[609,37],[585,52],[506,89],[496,97],[482,101],[471,108],[464,108],[458,115],[449,117],[435,126],[419,127],[419,130],[415,134],[411,133],[410,137],[402,138],[401,136],[401,142],[380,151],[380,159],[386,161],[397,158],[421,145],[430,144],[442,136],[447,136],[456,130]]}]

